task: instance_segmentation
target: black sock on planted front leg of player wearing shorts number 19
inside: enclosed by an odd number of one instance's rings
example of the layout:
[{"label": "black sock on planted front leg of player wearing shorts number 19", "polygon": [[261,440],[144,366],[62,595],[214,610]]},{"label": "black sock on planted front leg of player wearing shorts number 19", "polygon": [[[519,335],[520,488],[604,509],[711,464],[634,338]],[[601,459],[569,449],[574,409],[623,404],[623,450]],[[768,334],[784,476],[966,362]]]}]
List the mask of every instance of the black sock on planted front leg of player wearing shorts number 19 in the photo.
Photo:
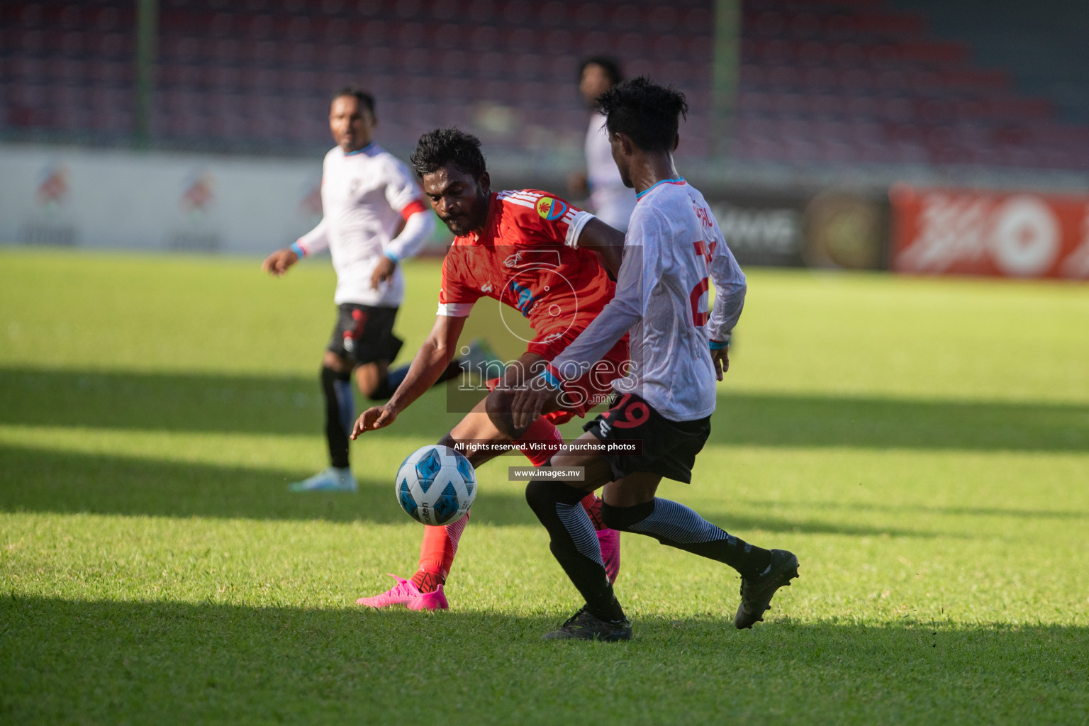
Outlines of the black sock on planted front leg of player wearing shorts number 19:
[{"label": "black sock on planted front leg of player wearing shorts number 19", "polygon": [[587,610],[602,620],[623,620],[597,533],[580,504],[584,496],[583,490],[558,481],[534,480],[526,487],[526,501],[551,537],[549,549],[586,600]]}]

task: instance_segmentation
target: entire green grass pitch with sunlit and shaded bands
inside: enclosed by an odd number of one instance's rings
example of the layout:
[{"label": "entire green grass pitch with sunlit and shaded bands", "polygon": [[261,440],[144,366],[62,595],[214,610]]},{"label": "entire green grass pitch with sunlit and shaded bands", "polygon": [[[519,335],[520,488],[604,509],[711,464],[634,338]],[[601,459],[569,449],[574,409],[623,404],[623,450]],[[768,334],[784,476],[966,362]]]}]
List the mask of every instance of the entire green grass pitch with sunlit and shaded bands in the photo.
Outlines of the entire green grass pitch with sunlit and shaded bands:
[{"label": "entire green grass pitch with sunlit and shaded bands", "polygon": [[[415,350],[438,267],[407,266]],[[409,574],[405,454],[442,392],[325,465],[327,259],[0,250],[0,723],[1087,724],[1089,286],[749,272],[692,485],[798,554],[738,632],[732,570],[624,536],[628,643],[542,642],[579,604],[507,482],[445,613]],[[575,428],[567,428],[568,433]]]}]

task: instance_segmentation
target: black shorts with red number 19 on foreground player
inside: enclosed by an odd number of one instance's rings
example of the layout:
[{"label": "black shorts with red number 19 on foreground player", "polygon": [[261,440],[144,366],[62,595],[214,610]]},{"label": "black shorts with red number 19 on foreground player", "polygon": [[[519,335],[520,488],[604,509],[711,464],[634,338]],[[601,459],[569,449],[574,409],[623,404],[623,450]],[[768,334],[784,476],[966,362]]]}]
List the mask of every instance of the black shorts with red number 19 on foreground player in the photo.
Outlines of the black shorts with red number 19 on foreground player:
[{"label": "black shorts with red number 19 on foreground player", "polygon": [[613,395],[617,398],[609,410],[583,426],[584,431],[589,431],[601,441],[643,441],[643,451],[637,455],[601,455],[612,468],[613,481],[636,471],[646,471],[686,484],[692,482],[696,454],[703,448],[711,433],[711,417],[671,421],[634,393]]}]

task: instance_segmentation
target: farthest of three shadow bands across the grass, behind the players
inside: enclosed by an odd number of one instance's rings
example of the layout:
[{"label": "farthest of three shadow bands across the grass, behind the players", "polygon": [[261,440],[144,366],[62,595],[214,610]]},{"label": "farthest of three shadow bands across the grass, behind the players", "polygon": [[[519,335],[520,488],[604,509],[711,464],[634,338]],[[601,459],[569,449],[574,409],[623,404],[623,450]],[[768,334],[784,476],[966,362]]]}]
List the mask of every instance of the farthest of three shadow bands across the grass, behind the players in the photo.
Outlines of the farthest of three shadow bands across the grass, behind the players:
[{"label": "farthest of three shadow bands across the grass, behind the players", "polygon": [[[431,394],[399,419],[428,439],[460,416]],[[437,410],[436,406],[443,406]],[[314,434],[315,377],[0,368],[0,423]],[[865,448],[1089,451],[1089,406],[738,394],[719,398],[711,443]]]}]

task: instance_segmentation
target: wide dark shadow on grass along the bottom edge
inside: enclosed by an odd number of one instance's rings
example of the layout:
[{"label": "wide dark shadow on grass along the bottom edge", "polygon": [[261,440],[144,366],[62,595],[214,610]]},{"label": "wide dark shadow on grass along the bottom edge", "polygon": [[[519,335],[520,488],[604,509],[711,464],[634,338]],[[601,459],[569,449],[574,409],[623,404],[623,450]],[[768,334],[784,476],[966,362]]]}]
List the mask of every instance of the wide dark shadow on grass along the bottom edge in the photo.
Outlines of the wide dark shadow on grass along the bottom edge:
[{"label": "wide dark shadow on grass along the bottom edge", "polygon": [[[1089,631],[0,599],[8,723],[1084,723]],[[743,718],[743,721],[746,721]]]}]

